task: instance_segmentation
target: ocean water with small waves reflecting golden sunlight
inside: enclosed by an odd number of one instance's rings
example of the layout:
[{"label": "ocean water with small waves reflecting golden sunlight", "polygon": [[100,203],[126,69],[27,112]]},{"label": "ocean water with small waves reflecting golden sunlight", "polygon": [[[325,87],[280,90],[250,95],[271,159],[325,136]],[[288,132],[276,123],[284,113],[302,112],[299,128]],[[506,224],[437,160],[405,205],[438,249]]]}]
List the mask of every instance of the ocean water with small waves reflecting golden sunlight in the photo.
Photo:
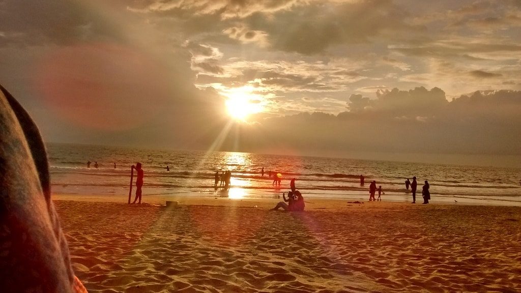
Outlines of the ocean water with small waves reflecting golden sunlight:
[{"label": "ocean water with small waves reflecting golden sunlight", "polygon": [[[130,166],[141,162],[145,202],[147,195],[155,194],[274,198],[289,190],[291,178],[296,178],[296,189],[306,200],[367,201],[369,183],[375,180],[384,192],[382,200],[410,202],[412,196],[404,181],[406,178],[412,181],[416,176],[417,202],[421,202],[421,187],[428,180],[432,203],[521,205],[521,168],[63,143],[49,143],[47,151],[55,194],[128,195]],[[88,161],[92,162],[90,168]],[[94,167],[95,162],[98,168]],[[265,174],[261,176],[263,167]],[[231,170],[228,192],[214,188],[216,170]],[[270,171],[282,174],[280,188],[272,185]],[[360,175],[365,177],[365,186],[360,185]]]}]

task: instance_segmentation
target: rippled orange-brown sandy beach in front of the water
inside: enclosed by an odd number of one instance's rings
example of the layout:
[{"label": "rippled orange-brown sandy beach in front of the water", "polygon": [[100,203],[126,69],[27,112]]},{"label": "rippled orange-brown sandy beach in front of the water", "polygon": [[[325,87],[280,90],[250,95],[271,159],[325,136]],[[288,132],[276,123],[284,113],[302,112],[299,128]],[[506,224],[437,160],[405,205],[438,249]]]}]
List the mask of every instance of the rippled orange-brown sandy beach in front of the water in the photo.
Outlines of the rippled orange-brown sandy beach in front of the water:
[{"label": "rippled orange-brown sandy beach in front of the water", "polygon": [[55,205],[89,292],[521,291],[519,207],[71,198]]}]

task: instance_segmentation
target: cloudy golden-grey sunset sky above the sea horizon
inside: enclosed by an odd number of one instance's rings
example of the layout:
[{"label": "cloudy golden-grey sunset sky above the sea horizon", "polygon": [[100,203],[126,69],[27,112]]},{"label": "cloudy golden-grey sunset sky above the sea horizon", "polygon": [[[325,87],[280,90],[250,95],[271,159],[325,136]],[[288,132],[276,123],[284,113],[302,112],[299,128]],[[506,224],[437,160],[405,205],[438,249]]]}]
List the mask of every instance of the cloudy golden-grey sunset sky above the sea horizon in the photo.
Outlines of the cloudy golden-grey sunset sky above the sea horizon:
[{"label": "cloudy golden-grey sunset sky above the sea horizon", "polygon": [[48,142],[519,166],[520,44],[519,0],[0,0]]}]

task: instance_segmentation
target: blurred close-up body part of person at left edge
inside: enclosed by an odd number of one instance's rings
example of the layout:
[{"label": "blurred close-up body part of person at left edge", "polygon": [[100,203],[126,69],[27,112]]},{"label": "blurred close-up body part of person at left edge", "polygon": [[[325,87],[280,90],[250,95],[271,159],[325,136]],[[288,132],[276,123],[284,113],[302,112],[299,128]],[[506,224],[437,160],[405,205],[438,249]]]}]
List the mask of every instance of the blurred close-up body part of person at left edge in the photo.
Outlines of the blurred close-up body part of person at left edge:
[{"label": "blurred close-up body part of person at left edge", "polygon": [[0,291],[86,292],[72,271],[51,201],[40,132],[2,86],[0,223]]}]

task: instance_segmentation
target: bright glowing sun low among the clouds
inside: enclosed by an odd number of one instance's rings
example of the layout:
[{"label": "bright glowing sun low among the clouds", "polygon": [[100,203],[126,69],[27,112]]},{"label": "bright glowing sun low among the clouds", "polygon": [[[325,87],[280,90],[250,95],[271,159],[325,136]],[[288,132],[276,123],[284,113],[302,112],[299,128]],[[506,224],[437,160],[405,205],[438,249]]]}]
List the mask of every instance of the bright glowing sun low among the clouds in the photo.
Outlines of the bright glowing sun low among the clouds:
[{"label": "bright glowing sun low among the clouds", "polygon": [[250,115],[263,112],[262,97],[253,93],[252,87],[229,89],[225,95],[228,115],[235,120],[246,121]]}]

